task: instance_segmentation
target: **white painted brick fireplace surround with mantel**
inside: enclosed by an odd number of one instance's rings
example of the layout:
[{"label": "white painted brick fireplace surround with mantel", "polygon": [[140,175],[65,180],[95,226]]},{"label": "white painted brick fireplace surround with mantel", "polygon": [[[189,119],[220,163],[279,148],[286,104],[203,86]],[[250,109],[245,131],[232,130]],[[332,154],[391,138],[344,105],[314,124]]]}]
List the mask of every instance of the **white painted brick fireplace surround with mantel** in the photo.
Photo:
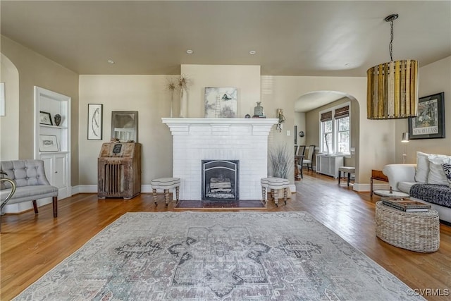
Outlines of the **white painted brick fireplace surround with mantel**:
[{"label": "white painted brick fireplace surround with mantel", "polygon": [[238,160],[240,199],[261,199],[268,135],[276,118],[161,118],[173,135],[173,177],[180,199],[202,199],[202,160]]}]

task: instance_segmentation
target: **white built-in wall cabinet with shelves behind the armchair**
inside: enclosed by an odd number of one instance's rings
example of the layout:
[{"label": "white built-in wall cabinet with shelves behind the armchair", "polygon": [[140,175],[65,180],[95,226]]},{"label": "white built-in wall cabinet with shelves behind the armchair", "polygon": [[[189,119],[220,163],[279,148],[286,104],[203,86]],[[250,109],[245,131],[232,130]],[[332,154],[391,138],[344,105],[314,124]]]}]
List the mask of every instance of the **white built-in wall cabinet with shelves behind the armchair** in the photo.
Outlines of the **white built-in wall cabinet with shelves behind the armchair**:
[{"label": "white built-in wall cabinet with shelves behind the armchair", "polygon": [[[61,116],[59,125],[56,115]],[[70,97],[42,87],[35,87],[35,159],[44,160],[58,199],[70,197]]]}]

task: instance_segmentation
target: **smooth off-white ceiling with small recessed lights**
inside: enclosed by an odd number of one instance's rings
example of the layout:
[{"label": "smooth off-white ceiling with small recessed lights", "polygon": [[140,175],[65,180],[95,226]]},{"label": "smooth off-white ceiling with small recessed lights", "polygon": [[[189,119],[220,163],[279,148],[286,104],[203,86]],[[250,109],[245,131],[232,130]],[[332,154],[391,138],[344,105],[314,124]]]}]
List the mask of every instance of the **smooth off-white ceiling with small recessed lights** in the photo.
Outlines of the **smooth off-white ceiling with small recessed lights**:
[{"label": "smooth off-white ceiling with small recessed lights", "polygon": [[233,64],[259,65],[261,75],[366,76],[390,61],[383,19],[391,13],[400,15],[394,60],[417,59],[421,67],[451,55],[449,0],[2,0],[0,8],[1,35],[78,74]]}]

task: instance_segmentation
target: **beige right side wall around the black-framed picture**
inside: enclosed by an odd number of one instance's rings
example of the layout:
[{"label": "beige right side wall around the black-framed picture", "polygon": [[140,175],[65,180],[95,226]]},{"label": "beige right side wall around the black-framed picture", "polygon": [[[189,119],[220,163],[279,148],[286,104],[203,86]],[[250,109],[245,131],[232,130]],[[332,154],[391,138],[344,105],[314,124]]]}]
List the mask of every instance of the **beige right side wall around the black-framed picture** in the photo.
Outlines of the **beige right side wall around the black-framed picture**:
[{"label": "beige right side wall around the black-framed picture", "polygon": [[[419,70],[419,97],[445,92],[445,138],[410,140],[406,145],[407,163],[416,163],[416,152],[431,154],[451,154],[451,56]],[[408,132],[407,119],[396,121],[395,126],[395,163],[402,163],[404,144],[401,142],[403,132]]]}]

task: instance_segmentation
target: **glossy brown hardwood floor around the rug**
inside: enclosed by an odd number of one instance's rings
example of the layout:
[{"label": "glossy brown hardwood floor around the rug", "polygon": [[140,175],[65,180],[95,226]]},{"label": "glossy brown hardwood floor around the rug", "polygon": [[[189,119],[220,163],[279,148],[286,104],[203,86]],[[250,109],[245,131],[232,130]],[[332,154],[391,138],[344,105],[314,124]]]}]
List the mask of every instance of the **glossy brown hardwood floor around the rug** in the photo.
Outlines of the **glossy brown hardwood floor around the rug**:
[{"label": "glossy brown hardwood floor around the rug", "polygon": [[[427,300],[450,300],[451,227],[440,224],[440,249],[431,254],[388,245],[375,235],[374,210],[379,197],[354,192],[345,183],[338,185],[338,180],[304,171],[288,204],[279,202],[275,207],[268,202],[267,211],[308,211],[411,288],[424,292]],[[163,195],[155,207],[152,194],[130,200],[79,194],[58,202],[57,219],[52,217],[51,204],[40,207],[37,215],[27,211],[3,216],[1,300],[11,300],[125,212],[173,211],[174,206],[171,203],[166,209]]]}]

